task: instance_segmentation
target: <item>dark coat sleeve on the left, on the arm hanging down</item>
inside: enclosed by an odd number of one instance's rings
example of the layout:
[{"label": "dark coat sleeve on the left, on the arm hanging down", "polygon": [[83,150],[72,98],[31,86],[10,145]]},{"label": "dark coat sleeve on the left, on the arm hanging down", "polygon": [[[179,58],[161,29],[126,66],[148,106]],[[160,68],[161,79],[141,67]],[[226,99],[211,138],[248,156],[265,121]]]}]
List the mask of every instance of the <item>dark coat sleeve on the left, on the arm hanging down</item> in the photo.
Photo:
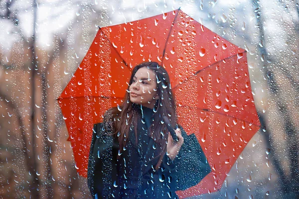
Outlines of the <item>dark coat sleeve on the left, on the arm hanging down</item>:
[{"label": "dark coat sleeve on the left, on the arm hanging down", "polygon": [[88,187],[93,199],[119,198],[118,142],[103,123],[94,125],[88,161]]}]

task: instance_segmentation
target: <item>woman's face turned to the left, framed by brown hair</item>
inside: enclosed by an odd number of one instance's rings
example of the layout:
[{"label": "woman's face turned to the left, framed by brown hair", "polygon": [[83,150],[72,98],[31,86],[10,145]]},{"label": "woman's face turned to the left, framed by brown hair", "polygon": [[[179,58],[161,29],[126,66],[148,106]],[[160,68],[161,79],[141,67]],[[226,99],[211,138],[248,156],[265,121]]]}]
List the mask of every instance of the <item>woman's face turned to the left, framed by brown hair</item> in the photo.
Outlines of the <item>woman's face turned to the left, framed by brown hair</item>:
[{"label": "woman's face turned to the left, framed by brown hair", "polygon": [[157,80],[154,72],[146,67],[138,69],[130,85],[132,103],[153,108],[157,97]]}]

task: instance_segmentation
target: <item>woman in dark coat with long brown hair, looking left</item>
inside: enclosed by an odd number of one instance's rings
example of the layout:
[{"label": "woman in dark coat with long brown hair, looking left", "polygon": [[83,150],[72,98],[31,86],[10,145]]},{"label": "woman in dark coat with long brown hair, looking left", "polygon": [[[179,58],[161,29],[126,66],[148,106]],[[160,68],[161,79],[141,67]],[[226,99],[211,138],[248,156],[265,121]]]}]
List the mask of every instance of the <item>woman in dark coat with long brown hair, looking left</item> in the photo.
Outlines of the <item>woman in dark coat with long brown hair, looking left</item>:
[{"label": "woman in dark coat with long brown hair, looking left", "polygon": [[176,125],[175,100],[166,70],[137,65],[123,103],[94,125],[88,164],[93,198],[169,199],[210,172],[194,134],[182,127],[173,141],[162,117]]}]

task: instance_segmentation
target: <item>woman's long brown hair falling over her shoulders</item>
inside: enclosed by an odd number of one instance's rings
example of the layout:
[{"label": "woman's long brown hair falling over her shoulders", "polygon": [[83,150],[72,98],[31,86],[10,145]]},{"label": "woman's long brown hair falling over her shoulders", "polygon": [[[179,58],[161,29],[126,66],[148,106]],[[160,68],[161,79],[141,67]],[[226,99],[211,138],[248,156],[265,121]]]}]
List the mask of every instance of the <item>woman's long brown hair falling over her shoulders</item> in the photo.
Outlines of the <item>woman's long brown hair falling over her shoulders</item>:
[{"label": "woman's long brown hair falling over her shoulders", "polygon": [[131,124],[134,126],[135,136],[137,137],[137,123],[141,117],[140,111],[138,111],[140,106],[131,102],[129,88],[133,82],[133,77],[135,76],[136,72],[143,67],[147,67],[149,70],[153,71],[157,79],[157,94],[159,99],[156,100],[155,106],[153,108],[153,122],[149,126],[148,132],[149,136],[161,148],[161,151],[157,156],[159,157],[159,160],[155,167],[155,169],[158,169],[161,165],[163,155],[166,153],[166,141],[168,139],[168,130],[165,124],[162,124],[161,118],[165,115],[169,118],[170,124],[172,126],[176,124],[175,99],[171,92],[168,73],[163,67],[156,62],[144,62],[135,66],[132,71],[128,90],[123,102],[119,105],[119,107],[112,107],[106,112],[106,115],[104,116],[104,122],[110,120],[110,125],[112,127],[111,132],[114,137],[118,136],[120,153],[123,151],[123,148],[128,142],[129,133],[132,130]]}]

